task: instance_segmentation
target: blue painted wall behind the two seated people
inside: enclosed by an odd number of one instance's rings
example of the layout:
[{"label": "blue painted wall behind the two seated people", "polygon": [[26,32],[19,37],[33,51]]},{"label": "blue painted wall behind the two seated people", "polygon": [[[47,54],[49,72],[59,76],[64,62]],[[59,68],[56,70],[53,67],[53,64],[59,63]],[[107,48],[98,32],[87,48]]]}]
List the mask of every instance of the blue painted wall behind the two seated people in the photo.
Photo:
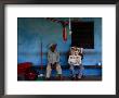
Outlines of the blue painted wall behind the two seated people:
[{"label": "blue painted wall behind the two seated people", "polygon": [[[58,19],[68,20],[68,19]],[[71,19],[74,20],[74,19]],[[84,49],[84,65],[95,65],[102,61],[102,19],[101,17],[82,17],[80,21],[94,22],[94,49]],[[68,30],[68,27],[67,27]],[[43,65],[47,65],[47,51],[51,42],[57,44],[57,50],[61,52],[61,64],[66,65],[67,59],[63,52],[69,50],[71,35],[67,32],[67,41],[63,41],[62,26],[58,23],[51,22],[47,19],[17,19],[17,62],[32,62],[35,65],[41,64],[41,40],[43,44]]]}]

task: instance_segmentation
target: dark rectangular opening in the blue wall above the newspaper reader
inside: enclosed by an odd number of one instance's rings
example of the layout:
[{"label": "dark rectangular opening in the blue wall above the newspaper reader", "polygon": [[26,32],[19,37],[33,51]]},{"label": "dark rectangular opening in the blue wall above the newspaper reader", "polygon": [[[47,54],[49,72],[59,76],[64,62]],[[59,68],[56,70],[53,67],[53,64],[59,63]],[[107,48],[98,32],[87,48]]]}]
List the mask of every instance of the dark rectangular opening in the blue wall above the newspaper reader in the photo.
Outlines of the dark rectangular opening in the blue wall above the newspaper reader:
[{"label": "dark rectangular opening in the blue wall above the newspaper reader", "polygon": [[94,22],[71,22],[71,46],[94,49]]}]

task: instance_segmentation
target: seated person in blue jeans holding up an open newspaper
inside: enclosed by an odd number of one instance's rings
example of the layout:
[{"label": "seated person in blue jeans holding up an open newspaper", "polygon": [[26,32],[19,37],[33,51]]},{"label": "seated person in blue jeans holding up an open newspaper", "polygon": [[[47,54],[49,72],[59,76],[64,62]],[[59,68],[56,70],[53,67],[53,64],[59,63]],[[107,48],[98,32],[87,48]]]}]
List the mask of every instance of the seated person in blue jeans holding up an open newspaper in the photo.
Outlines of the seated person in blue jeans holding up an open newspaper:
[{"label": "seated person in blue jeans holding up an open newspaper", "polygon": [[70,48],[68,63],[70,65],[70,72],[72,78],[76,78],[76,75],[78,78],[82,77],[82,71],[83,71],[83,66],[81,63],[82,58],[83,58],[82,48],[77,48],[77,47]]}]

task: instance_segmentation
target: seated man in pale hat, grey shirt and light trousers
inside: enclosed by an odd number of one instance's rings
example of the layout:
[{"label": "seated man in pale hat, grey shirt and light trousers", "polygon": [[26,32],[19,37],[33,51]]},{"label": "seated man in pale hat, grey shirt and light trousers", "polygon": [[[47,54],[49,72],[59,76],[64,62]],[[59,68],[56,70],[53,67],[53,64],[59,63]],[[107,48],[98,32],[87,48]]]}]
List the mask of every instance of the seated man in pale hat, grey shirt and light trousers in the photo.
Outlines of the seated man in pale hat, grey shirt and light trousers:
[{"label": "seated man in pale hat, grey shirt and light trousers", "polygon": [[60,79],[62,76],[62,68],[60,65],[60,53],[56,51],[56,44],[50,45],[50,50],[48,52],[47,79],[50,79],[52,69],[56,69]]}]

